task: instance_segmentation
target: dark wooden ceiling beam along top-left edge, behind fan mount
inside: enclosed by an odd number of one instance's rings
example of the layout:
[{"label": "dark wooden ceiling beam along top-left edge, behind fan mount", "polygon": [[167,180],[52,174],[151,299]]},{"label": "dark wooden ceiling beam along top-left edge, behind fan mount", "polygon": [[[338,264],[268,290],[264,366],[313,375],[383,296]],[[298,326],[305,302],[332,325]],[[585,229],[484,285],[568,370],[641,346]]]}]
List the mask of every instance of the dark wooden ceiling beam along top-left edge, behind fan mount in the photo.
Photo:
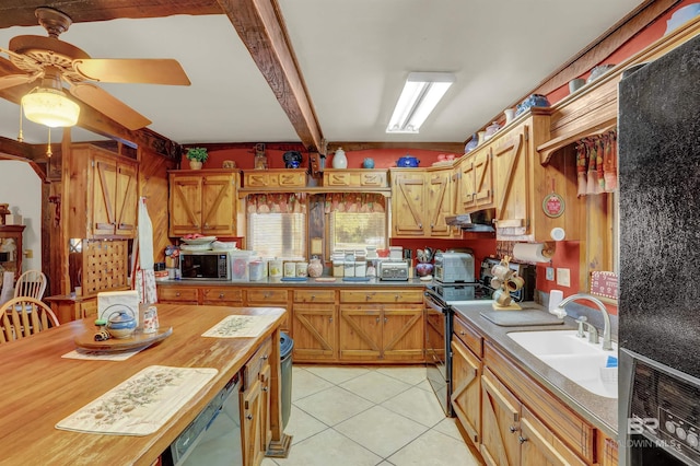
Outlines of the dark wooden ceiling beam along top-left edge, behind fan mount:
[{"label": "dark wooden ceiling beam along top-left edge, behind fan mount", "polygon": [[34,10],[50,7],[68,14],[73,23],[109,21],[118,18],[163,18],[174,14],[221,14],[214,0],[3,0],[0,2],[0,28],[36,26]]}]

